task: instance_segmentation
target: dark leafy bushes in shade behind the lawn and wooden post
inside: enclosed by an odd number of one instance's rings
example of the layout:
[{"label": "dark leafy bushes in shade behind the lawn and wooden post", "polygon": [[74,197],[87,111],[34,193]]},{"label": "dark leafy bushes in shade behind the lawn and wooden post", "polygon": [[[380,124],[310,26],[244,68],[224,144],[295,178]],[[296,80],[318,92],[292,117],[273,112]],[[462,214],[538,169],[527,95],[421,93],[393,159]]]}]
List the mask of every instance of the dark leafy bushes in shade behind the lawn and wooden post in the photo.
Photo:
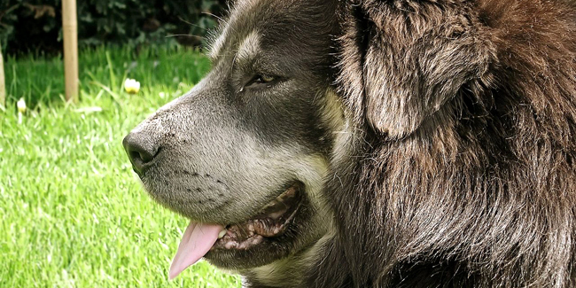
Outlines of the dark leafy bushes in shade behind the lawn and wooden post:
[{"label": "dark leafy bushes in shade behind the lawn and wooden post", "polygon": [[[225,0],[81,0],[81,46],[102,43],[203,43],[222,15]],[[61,0],[0,1],[0,43],[9,54],[58,52],[62,46]],[[173,36],[171,36],[173,35]]]}]

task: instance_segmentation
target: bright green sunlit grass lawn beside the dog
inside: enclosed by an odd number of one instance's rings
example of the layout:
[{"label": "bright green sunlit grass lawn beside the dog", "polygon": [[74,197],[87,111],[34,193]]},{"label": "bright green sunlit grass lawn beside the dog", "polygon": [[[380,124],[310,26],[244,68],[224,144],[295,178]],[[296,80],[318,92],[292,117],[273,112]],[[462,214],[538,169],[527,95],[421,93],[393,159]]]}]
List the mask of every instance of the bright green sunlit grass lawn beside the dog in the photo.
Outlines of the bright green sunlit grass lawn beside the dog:
[{"label": "bright green sunlit grass lawn beside the dog", "polygon": [[[65,105],[60,60],[5,59],[0,111],[0,287],[239,287],[202,261],[167,271],[188,221],[156,205],[121,140],[190,90],[209,63],[181,48],[80,55],[81,101]],[[122,82],[142,83],[137,95]],[[28,110],[18,123],[16,100]]]}]

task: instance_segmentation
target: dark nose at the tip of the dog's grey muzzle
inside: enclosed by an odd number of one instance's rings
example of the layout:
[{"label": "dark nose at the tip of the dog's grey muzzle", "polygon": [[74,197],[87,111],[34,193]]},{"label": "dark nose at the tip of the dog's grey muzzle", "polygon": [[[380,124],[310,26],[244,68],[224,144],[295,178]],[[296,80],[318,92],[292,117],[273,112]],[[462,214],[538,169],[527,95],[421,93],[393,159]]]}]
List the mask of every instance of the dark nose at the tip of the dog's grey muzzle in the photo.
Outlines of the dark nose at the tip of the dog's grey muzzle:
[{"label": "dark nose at the tip of the dog's grey muzzle", "polygon": [[130,132],[124,137],[122,144],[137,174],[142,174],[147,167],[150,167],[150,162],[154,160],[159,150],[150,136],[138,132]]}]

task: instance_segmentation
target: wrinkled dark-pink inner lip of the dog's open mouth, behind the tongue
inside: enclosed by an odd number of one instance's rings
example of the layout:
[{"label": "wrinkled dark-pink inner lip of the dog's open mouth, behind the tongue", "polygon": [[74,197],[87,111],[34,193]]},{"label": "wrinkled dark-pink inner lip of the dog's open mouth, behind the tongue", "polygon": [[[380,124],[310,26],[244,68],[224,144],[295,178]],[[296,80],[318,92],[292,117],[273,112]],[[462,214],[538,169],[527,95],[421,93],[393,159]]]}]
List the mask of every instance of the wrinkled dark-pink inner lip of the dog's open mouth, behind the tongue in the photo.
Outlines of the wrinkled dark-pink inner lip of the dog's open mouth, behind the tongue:
[{"label": "wrinkled dark-pink inner lip of the dog's open mouth, behind the tongue", "polygon": [[260,214],[245,222],[226,226],[211,250],[245,250],[261,244],[264,238],[283,235],[300,208],[301,189],[300,183],[292,184],[269,205],[264,206]]}]

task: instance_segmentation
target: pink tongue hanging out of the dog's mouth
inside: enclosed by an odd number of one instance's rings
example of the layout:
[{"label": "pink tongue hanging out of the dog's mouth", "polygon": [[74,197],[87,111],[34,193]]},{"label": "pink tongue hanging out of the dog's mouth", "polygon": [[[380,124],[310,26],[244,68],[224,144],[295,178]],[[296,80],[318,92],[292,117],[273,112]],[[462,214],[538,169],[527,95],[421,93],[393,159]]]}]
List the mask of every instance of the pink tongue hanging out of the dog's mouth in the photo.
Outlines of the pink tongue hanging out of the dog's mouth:
[{"label": "pink tongue hanging out of the dog's mouth", "polygon": [[218,240],[218,234],[224,229],[223,226],[214,224],[202,224],[190,222],[184,231],[182,241],[178,245],[178,252],[170,265],[170,279],[182,273],[192,264],[202,258]]}]

